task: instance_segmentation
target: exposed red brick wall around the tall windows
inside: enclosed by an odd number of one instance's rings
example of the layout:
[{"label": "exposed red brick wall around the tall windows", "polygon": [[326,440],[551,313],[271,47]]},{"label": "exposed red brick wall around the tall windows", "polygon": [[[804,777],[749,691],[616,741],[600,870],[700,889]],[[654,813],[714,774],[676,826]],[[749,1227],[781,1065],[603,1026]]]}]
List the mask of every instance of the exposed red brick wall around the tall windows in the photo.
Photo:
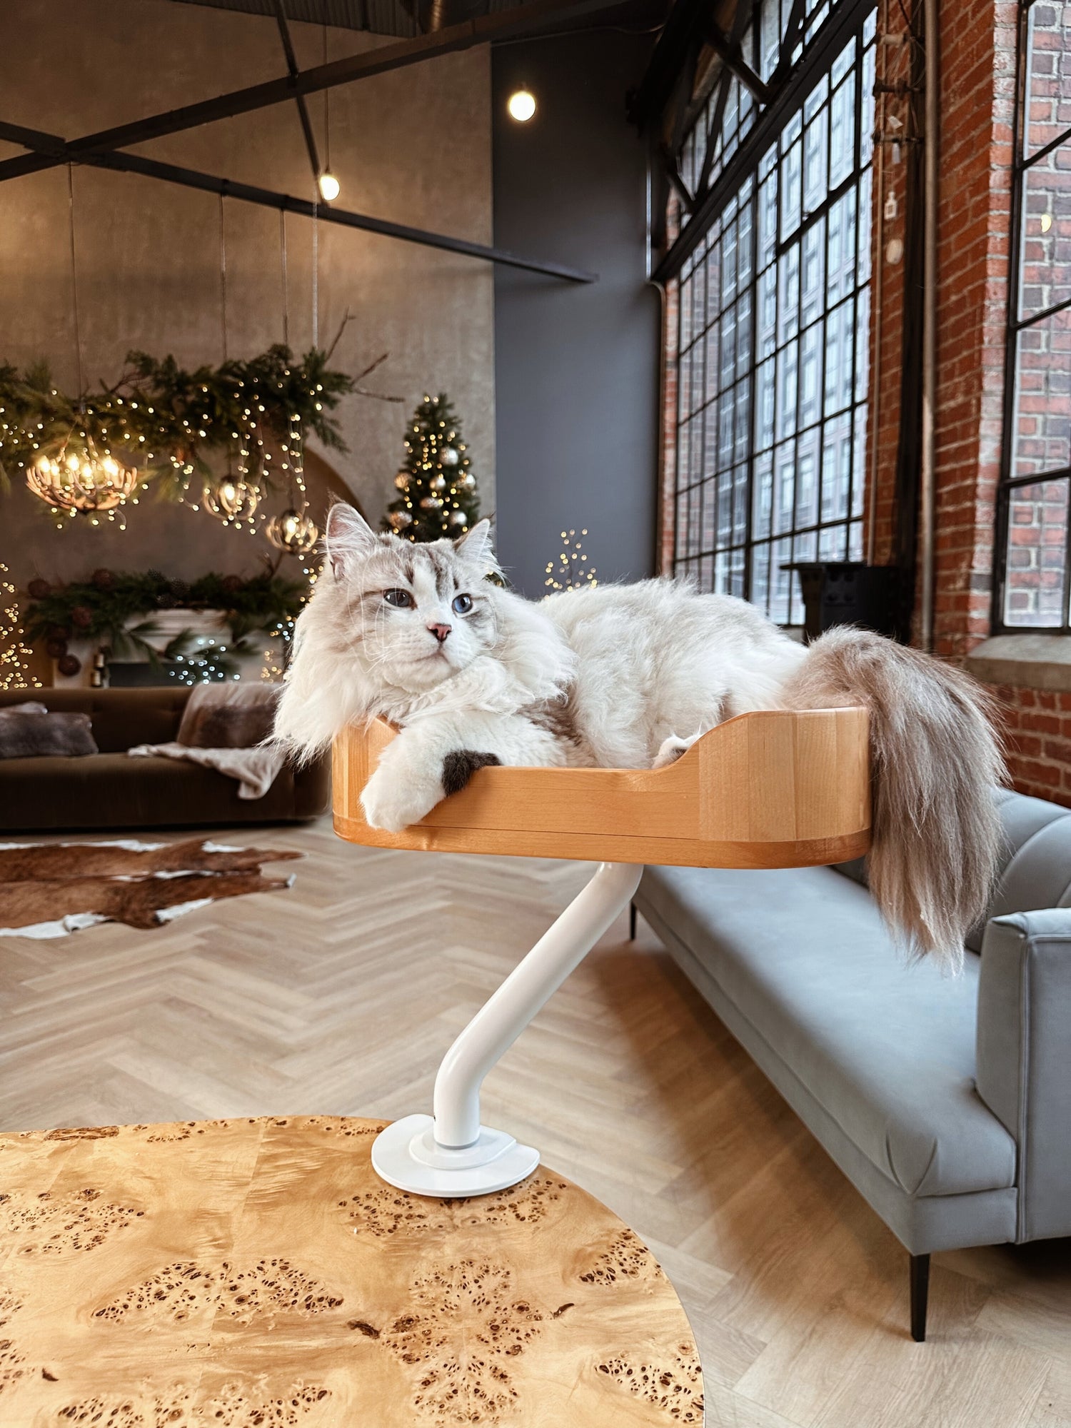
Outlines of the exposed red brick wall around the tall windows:
[{"label": "exposed red brick wall around the tall windows", "polygon": [[[890,6],[900,33],[901,16]],[[1055,21],[1054,21],[1055,24]],[[1017,6],[964,0],[941,7],[941,157],[937,316],[937,610],[935,648],[962,660],[990,634],[995,494],[1000,477],[1004,361],[1008,316],[1012,113]],[[890,79],[898,46],[887,47]],[[904,114],[890,101],[890,113]],[[900,171],[902,174],[902,169]],[[883,218],[895,186],[900,213]],[[902,177],[885,154],[874,204],[874,261],[884,261],[883,317],[873,331],[878,390],[874,558],[892,554],[894,476],[900,420],[902,268],[885,247],[902,237]],[[1028,258],[1035,254],[1028,253]],[[1042,274],[1044,276],[1044,274]],[[1047,536],[1038,498],[1021,503],[1012,545],[1030,551],[1044,587],[1048,544],[1062,545],[1062,524]],[[1000,685],[1008,765],[1015,787],[1071,805],[1071,694]]]}]

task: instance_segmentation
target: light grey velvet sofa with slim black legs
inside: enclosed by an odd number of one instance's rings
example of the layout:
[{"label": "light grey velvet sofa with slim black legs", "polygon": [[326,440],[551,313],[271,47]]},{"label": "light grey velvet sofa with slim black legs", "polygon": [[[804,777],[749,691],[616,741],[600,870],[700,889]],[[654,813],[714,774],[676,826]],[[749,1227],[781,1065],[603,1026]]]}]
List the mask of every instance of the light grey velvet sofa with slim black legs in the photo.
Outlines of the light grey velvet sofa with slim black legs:
[{"label": "light grey velvet sofa with slim black legs", "polygon": [[1071,1235],[1071,810],[1002,791],[962,977],[907,962],[840,868],[648,868],[634,911],[911,1254]]}]

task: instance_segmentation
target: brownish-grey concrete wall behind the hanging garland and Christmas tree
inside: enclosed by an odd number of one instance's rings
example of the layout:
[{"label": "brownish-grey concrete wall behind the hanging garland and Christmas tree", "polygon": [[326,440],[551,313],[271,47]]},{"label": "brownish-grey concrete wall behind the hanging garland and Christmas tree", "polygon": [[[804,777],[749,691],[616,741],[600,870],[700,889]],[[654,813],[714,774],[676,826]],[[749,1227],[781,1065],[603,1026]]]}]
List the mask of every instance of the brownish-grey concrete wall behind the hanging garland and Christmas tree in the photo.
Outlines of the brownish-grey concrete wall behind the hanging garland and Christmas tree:
[{"label": "brownish-grey concrete wall behind the hanging garland and Christmas tree", "polygon": [[[74,16],[77,10],[77,16]],[[298,63],[323,59],[323,30],[294,24]],[[274,20],[171,0],[6,0],[0,9],[4,117],[64,137],[274,79],[284,71]],[[328,57],[387,43],[328,30]],[[331,94],[331,167],[340,206],[491,238],[490,57],[447,56]],[[323,141],[323,97],[310,100]],[[23,150],[0,144],[4,159]],[[297,111],[281,104],[144,144],[141,153],[313,197]],[[131,347],[183,364],[221,357],[218,200],[130,174],[74,170],[79,298],[89,381],[113,381]],[[278,214],[227,201],[227,326],[231,356],[283,334]],[[290,343],[313,340],[313,224],[288,217]],[[0,186],[0,361],[46,357],[76,386],[67,173]],[[348,398],[350,456],[338,474],[310,461],[314,506],[344,481],[377,520],[393,496],[406,418],[426,391],[454,398],[487,508],[494,507],[493,276],[488,264],[318,224],[318,336],[330,343],[357,314],[334,361],[400,406]],[[277,503],[278,504],[278,503]],[[97,565],[160,567],[177,577],[251,571],[263,538],[203,513],[141,503],[129,530],[57,531],[27,491],[0,498],[0,560],[20,585],[77,578]]]}]

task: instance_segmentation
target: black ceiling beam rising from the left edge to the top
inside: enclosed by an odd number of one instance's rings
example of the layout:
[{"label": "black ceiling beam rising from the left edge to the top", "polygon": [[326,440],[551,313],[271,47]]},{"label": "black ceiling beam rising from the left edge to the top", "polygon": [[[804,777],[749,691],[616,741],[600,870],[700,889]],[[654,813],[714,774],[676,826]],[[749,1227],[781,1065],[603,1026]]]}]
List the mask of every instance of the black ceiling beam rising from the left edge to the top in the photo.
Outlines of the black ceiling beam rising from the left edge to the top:
[{"label": "black ceiling beam rising from the left edge to the top", "polygon": [[163,114],[150,114],[131,124],[119,124],[114,129],[101,129],[96,134],[86,134],[81,139],[60,141],[63,149],[57,153],[41,151],[9,159],[0,163],[0,181],[37,173],[41,169],[54,169],[57,164],[69,161],[89,161],[91,154],[127,149],[130,144],[143,144],[151,139],[163,139],[166,134],[196,129],[198,124],[211,124],[220,119],[233,119],[236,114],[267,109],[270,104],[284,104],[298,94],[318,94],[321,90],[334,89],[338,84],[353,84],[356,80],[387,74],[391,70],[418,64],[421,60],[431,60],[440,54],[457,54],[493,40],[526,36],[547,21],[563,23],[594,10],[611,9],[615,3],[618,0],[531,0],[531,4],[451,24],[433,34],[418,34],[413,40],[400,40],[397,44],[386,44],[383,49],[366,50],[343,60],[331,60],[330,64],[317,64],[294,76],[286,74],[283,79],[251,84],[248,89],[233,90],[230,94],[220,94],[217,99],[203,100],[198,104],[184,104],[181,109],[171,109]]}]

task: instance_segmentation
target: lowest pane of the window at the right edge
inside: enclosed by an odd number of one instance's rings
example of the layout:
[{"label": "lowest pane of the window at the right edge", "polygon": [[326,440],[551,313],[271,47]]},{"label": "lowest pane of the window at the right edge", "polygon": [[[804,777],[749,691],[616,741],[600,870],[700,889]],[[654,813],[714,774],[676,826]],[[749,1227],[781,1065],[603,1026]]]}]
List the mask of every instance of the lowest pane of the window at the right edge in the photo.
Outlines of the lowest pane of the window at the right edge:
[{"label": "lowest pane of the window at the right edge", "polygon": [[1008,503],[1004,623],[1062,625],[1068,483],[1020,486]]}]

